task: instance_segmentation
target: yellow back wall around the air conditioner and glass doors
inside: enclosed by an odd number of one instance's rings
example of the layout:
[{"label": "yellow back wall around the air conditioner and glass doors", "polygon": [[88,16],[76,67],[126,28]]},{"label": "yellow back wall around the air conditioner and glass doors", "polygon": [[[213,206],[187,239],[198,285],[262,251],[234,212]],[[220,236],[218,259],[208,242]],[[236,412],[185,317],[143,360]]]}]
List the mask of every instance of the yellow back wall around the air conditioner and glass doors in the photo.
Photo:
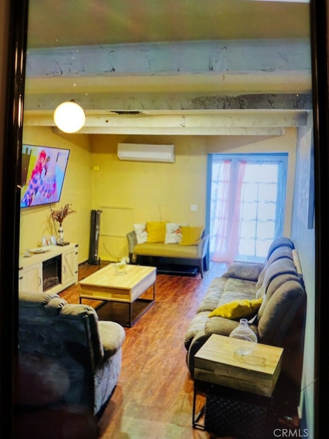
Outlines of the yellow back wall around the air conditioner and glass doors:
[{"label": "yellow back wall around the air conditioner and glass doors", "polygon": [[[174,144],[175,163],[122,162],[117,144]],[[99,257],[127,254],[126,233],[147,220],[204,225],[207,154],[211,152],[289,152],[284,234],[290,235],[296,159],[296,129],[285,136],[94,136],[93,208],[101,209]],[[191,210],[191,204],[197,210]]]}]

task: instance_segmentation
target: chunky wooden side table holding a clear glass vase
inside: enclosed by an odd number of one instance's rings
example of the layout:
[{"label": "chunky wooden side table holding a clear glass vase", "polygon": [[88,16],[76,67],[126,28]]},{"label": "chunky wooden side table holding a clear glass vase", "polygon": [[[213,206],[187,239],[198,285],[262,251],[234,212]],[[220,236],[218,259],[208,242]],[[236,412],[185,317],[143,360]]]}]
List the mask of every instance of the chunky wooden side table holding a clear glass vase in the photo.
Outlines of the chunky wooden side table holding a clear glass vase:
[{"label": "chunky wooden side table holding a clear glass vase", "polygon": [[[258,343],[250,355],[236,355],[228,337],[213,334],[194,356],[193,428],[208,430],[207,410],[208,413],[212,411],[212,415],[215,410],[216,422],[220,422],[221,416],[225,417],[221,411],[227,410],[230,414],[236,411],[238,406],[245,411],[245,417],[251,417],[251,423],[257,423],[257,419],[252,419],[253,416],[257,416],[257,410],[254,408],[262,409],[271,405],[281,371],[282,353],[283,349],[280,347]],[[196,415],[196,396],[200,387],[207,389],[206,407]],[[223,406],[220,400],[224,401]],[[233,400],[234,410],[229,407],[230,401]],[[205,424],[200,424],[199,420],[204,413]],[[238,410],[236,424],[239,423],[239,417],[243,417],[242,414],[239,416],[239,413]],[[234,432],[224,430],[220,432],[221,435],[234,435]],[[218,434],[217,431],[211,432]],[[253,437],[256,437],[254,433]]]}]

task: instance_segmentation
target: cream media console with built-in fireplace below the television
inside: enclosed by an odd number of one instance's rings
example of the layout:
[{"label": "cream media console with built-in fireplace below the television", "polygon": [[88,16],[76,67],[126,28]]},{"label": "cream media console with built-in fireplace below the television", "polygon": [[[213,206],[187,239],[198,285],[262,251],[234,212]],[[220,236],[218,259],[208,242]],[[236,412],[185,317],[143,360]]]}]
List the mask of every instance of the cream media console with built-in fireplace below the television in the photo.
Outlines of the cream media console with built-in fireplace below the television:
[{"label": "cream media console with built-in fireplace below the television", "polygon": [[42,253],[20,256],[19,290],[59,293],[78,283],[78,244],[50,245]]}]

